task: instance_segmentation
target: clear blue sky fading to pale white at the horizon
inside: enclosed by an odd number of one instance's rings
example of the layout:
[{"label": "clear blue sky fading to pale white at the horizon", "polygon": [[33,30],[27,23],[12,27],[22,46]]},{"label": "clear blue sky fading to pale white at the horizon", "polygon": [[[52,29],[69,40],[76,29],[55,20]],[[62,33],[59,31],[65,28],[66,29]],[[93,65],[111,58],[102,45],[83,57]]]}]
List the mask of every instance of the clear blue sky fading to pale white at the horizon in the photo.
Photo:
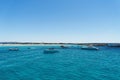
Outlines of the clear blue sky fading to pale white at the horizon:
[{"label": "clear blue sky fading to pale white at the horizon", "polygon": [[0,0],[0,41],[120,42],[120,0]]}]

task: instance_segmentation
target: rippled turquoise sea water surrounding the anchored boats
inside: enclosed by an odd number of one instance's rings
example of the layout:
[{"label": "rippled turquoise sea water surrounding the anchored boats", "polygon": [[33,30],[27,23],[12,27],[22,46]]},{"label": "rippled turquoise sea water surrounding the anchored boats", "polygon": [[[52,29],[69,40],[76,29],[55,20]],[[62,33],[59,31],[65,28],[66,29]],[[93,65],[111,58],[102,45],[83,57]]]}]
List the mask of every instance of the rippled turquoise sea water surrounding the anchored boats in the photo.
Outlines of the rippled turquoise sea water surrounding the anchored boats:
[{"label": "rippled turquoise sea water surrounding the anchored boats", "polygon": [[0,80],[120,80],[120,48],[43,54],[50,46],[17,46],[20,51],[8,51],[10,47],[0,47]]}]

